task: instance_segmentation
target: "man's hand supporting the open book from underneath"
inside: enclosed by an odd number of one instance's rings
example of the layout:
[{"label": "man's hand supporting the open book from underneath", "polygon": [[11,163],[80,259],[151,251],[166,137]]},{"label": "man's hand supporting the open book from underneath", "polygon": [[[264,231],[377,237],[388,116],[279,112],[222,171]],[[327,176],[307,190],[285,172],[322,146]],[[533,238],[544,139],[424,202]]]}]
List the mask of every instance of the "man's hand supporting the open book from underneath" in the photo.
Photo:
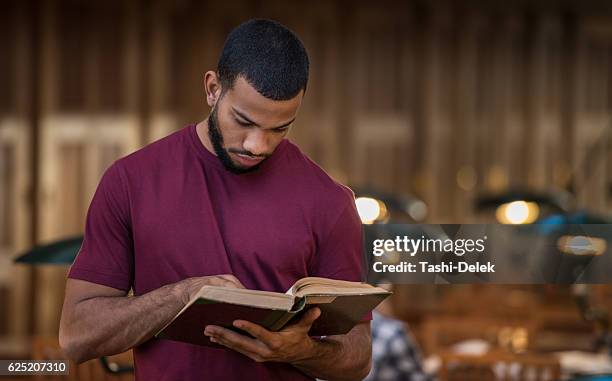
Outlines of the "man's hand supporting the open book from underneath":
[{"label": "man's hand supporting the open book from underneath", "polygon": [[296,363],[315,355],[315,342],[308,336],[308,331],[320,315],[319,308],[311,308],[297,323],[278,332],[268,331],[248,321],[234,321],[234,327],[250,333],[254,339],[214,325],[206,326],[204,334],[213,343],[224,345],[257,362]]}]

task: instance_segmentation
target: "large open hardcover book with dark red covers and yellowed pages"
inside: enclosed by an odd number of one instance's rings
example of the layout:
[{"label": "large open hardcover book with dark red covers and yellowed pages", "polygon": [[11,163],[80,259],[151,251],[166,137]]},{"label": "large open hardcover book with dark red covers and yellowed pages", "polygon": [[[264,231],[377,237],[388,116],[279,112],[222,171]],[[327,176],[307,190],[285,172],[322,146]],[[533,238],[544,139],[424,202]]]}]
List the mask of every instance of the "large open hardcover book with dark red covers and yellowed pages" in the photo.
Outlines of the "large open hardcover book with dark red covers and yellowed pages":
[{"label": "large open hardcover book with dark red covers and yellowed pages", "polygon": [[155,337],[197,345],[218,346],[204,335],[207,325],[235,328],[247,320],[270,331],[298,320],[310,307],[321,309],[311,336],[341,335],[350,331],[390,292],[365,283],[326,278],[302,278],[285,294],[219,286],[203,286]]}]

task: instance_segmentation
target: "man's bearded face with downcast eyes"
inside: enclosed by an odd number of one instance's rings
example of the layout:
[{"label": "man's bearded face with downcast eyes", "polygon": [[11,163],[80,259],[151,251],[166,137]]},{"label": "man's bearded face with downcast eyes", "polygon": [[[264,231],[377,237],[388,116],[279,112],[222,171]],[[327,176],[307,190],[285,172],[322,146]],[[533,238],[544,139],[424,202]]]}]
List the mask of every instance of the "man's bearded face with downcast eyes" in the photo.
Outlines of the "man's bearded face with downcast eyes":
[{"label": "man's bearded face with downcast eyes", "polygon": [[208,138],[225,168],[249,172],[272,155],[287,135],[302,97],[303,91],[292,99],[274,101],[238,77],[208,117]]}]

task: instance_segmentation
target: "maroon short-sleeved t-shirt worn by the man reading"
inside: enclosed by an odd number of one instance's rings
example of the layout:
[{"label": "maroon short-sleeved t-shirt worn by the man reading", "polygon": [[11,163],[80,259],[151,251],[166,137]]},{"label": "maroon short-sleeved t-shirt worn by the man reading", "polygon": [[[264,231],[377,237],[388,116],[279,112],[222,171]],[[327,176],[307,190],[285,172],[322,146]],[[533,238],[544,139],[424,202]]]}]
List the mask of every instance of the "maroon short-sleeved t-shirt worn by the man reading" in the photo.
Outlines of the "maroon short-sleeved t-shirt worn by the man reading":
[{"label": "maroon short-sleeved t-shirt worn by the man reading", "polygon": [[[189,125],[104,173],[68,277],[142,295],[195,276],[233,274],[285,292],[296,280],[362,279],[352,192],[288,140],[236,175]],[[228,349],[152,339],[134,348],[137,380],[311,379]]]}]

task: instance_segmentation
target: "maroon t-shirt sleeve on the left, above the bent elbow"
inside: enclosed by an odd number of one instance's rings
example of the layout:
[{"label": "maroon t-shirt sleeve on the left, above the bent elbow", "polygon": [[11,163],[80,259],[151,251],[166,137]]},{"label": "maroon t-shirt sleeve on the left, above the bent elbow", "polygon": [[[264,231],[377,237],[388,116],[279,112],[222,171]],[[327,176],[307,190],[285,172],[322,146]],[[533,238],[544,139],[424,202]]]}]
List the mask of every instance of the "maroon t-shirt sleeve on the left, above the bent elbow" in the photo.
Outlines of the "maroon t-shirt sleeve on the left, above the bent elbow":
[{"label": "maroon t-shirt sleeve on the left, above the bent elbow", "polygon": [[127,291],[134,279],[130,208],[121,168],[109,167],[89,205],[85,237],[69,278]]}]

